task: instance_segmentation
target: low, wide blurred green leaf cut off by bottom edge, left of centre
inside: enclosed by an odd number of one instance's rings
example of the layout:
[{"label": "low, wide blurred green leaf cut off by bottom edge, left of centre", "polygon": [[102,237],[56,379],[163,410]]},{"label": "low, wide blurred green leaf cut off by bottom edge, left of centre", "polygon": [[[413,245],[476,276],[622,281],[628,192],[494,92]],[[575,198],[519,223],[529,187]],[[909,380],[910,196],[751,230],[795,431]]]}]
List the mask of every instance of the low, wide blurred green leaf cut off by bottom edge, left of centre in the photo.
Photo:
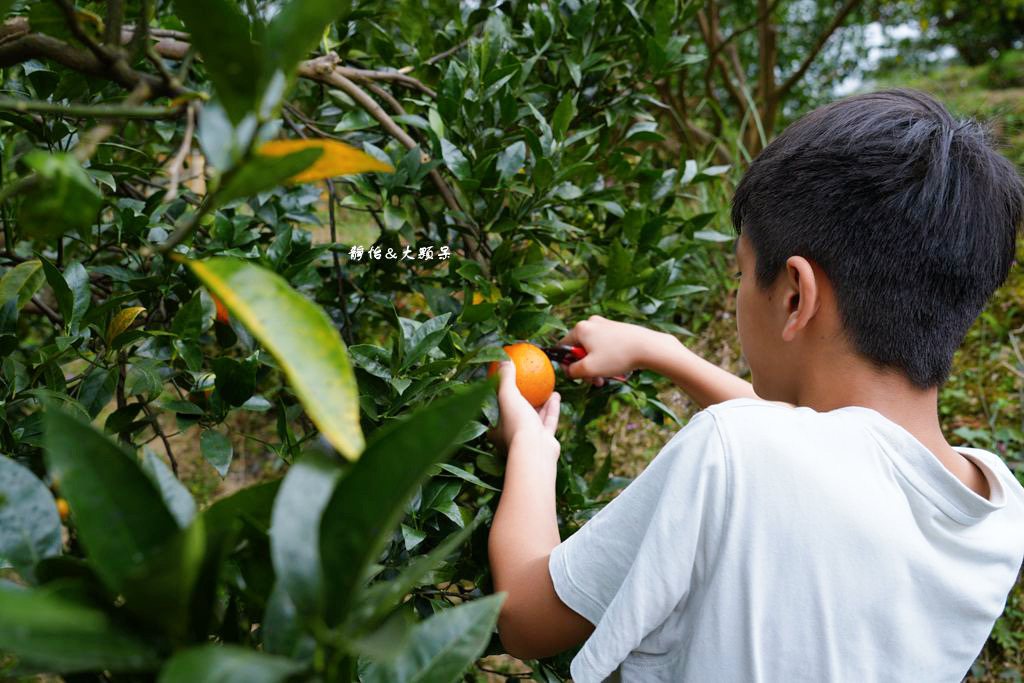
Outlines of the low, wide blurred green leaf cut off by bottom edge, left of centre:
[{"label": "low, wide blurred green leaf cut off by bottom edge, left of centre", "polygon": [[286,657],[238,645],[202,645],[177,652],[160,672],[158,683],[278,683],[305,666]]}]

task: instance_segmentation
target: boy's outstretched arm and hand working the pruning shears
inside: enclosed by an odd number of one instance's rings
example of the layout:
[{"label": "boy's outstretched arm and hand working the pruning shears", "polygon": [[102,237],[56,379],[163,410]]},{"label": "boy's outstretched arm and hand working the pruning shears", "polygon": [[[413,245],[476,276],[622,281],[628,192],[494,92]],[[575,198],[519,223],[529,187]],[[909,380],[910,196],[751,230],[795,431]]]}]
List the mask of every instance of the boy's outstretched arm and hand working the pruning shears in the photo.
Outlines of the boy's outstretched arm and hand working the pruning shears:
[{"label": "boy's outstretched arm and hand working the pruning shears", "polygon": [[[730,398],[760,398],[746,380],[705,360],[670,334],[591,315],[577,323],[563,344],[579,344],[587,355],[568,367],[570,377],[599,378],[650,370],[664,375],[701,409]],[[788,404],[788,403],[786,403]]]}]

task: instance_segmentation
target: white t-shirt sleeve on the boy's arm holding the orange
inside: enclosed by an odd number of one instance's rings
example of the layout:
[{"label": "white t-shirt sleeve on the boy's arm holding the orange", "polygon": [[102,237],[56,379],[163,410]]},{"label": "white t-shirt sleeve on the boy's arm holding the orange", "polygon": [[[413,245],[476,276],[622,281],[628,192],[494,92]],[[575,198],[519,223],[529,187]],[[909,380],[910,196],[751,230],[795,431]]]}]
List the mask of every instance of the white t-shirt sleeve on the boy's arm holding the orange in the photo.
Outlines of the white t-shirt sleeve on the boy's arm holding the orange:
[{"label": "white t-shirt sleeve on the boy's arm holding the orange", "polygon": [[717,547],[727,494],[722,438],[703,411],[551,552],[558,597],[596,627],[572,663],[574,680],[604,680],[685,600]]}]

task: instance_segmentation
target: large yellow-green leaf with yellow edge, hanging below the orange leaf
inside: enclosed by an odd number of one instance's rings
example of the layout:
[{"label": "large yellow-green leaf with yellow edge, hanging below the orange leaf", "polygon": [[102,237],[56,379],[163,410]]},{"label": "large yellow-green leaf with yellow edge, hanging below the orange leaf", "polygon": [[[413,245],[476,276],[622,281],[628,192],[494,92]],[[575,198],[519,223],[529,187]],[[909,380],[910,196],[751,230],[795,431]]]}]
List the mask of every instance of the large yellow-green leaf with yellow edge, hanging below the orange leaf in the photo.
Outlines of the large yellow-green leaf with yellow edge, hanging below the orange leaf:
[{"label": "large yellow-green leaf with yellow edge, hanging below the orange leaf", "polygon": [[273,354],[331,444],[358,458],[365,444],[355,376],[327,313],[283,278],[252,263],[221,257],[187,264]]}]

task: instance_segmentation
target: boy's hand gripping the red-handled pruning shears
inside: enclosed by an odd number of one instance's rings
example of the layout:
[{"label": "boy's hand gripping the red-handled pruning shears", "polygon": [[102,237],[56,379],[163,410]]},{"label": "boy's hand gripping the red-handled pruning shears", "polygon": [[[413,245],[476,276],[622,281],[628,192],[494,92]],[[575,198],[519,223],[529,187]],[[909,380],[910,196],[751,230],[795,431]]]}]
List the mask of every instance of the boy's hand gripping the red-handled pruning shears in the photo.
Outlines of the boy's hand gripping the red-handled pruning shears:
[{"label": "boy's hand gripping the red-handled pruning shears", "polygon": [[659,334],[639,325],[591,315],[577,323],[558,343],[582,346],[587,351],[584,358],[566,367],[568,376],[601,386],[605,377],[629,375],[642,367],[644,350]]}]

